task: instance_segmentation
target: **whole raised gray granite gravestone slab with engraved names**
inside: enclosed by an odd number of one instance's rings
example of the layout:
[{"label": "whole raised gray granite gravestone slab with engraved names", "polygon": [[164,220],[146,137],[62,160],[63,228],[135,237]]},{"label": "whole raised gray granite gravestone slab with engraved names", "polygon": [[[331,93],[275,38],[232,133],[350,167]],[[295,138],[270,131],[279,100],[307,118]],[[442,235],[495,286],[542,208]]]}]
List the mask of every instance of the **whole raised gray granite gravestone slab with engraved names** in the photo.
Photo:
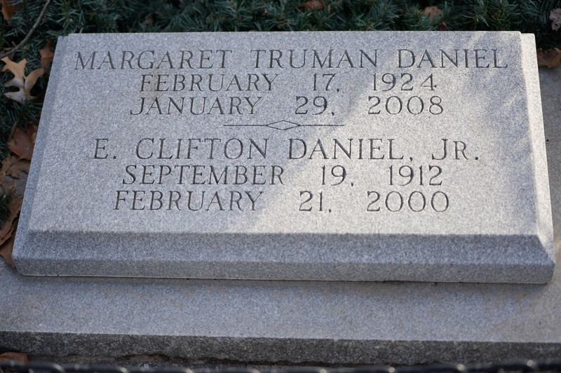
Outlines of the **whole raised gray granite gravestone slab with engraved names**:
[{"label": "whole raised gray granite gravestone slab with engraved names", "polygon": [[546,283],[534,46],[518,32],[61,38],[18,272]]}]

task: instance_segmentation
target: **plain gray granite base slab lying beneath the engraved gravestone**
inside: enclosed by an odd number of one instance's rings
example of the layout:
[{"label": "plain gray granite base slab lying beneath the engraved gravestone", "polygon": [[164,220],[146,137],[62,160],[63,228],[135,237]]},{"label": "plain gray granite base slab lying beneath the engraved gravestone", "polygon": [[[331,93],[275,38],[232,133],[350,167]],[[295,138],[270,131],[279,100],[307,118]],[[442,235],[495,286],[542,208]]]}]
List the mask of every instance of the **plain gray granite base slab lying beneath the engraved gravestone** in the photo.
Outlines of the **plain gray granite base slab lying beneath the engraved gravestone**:
[{"label": "plain gray granite base slab lying beneath the engraved gravestone", "polygon": [[[561,69],[539,77],[559,255]],[[561,356],[559,267],[538,285],[54,278],[1,263],[0,289],[0,349],[33,355],[322,365]]]}]

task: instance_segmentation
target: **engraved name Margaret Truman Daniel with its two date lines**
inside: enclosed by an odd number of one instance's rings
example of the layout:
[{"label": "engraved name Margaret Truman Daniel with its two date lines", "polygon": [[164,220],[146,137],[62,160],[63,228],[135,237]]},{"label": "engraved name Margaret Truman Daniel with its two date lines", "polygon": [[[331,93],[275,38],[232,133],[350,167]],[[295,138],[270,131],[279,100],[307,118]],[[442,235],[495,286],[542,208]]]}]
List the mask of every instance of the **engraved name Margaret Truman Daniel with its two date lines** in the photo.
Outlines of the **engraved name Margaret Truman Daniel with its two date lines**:
[{"label": "engraved name Margaret Truman Daniel with its two date lines", "polygon": [[[238,56],[245,61],[245,66],[236,66],[231,62],[235,52],[238,51],[79,51],[75,55],[74,69],[140,71],[137,80],[140,95],[131,104],[130,115],[254,115],[258,110],[266,110],[265,100],[262,100],[264,95],[274,96],[278,86],[287,84],[283,76],[295,70],[304,70],[309,71],[306,80],[311,92],[321,93],[295,95],[292,110],[297,115],[334,116],[336,112],[330,110],[329,103],[337,97],[327,97],[327,92],[339,93],[347,83],[345,78],[337,76],[337,71],[358,69],[364,78],[370,80],[372,94],[363,102],[366,115],[418,115],[425,110],[438,115],[444,110],[442,98],[438,95],[402,99],[384,92],[423,88],[434,91],[437,87],[435,73],[420,73],[426,69],[508,68],[503,50],[484,48],[393,51],[257,49],[249,50],[246,58]],[[379,64],[384,64],[384,59],[391,62],[390,66],[395,71],[377,71]],[[236,68],[259,72],[224,72]],[[279,72],[266,72],[272,69]],[[403,69],[412,70],[403,72]],[[167,95],[154,95],[154,92],[166,92]]]}]

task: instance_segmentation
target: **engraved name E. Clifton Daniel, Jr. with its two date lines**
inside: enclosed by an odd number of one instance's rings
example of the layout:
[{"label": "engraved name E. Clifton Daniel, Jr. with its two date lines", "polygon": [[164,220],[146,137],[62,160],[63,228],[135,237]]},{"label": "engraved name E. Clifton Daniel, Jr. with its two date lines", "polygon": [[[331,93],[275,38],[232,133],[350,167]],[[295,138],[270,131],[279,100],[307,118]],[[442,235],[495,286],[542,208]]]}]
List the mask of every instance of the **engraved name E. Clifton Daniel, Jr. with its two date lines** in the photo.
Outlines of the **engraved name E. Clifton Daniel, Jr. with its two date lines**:
[{"label": "engraved name E. Clifton Daniel, Jr. with its two date lines", "polygon": [[[376,167],[372,161],[385,160],[391,163],[383,167],[381,180],[373,178],[371,181],[372,185],[383,185],[384,190],[366,190],[365,211],[408,209],[442,213],[450,206],[450,197],[445,188],[442,189],[445,187],[442,164],[449,160],[465,162],[479,158],[471,156],[465,141],[440,139],[439,142],[434,151],[424,150],[429,162],[415,164],[412,156],[403,154],[396,139],[316,139],[310,142],[289,138],[275,143],[271,139],[143,138],[131,149],[128,159],[133,162],[122,169],[113,209],[256,211],[264,193],[285,185],[287,169],[298,169],[290,167],[290,162],[320,160],[331,162],[317,167],[316,173],[310,175],[315,181],[310,186],[319,189],[298,190],[292,197],[297,211],[331,213],[334,210],[328,206],[328,190],[337,193],[334,187],[344,186],[349,190],[356,185],[346,162],[370,162],[369,167]],[[273,147],[279,148],[284,157],[269,159],[268,150]],[[116,155],[111,154],[109,139],[95,139],[95,160],[116,159]],[[412,185],[419,189],[401,190]]]}]

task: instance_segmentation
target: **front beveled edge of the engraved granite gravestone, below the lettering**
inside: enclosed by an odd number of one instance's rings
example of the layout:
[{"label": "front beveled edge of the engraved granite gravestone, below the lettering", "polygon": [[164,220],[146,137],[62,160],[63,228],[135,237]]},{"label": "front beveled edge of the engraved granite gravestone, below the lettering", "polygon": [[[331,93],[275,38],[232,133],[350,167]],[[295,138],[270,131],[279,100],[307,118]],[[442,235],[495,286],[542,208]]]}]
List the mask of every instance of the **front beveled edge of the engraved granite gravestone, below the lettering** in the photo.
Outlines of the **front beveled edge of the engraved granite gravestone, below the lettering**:
[{"label": "front beveled edge of the engraved granite gravestone, below the lettering", "polygon": [[[182,258],[158,258],[148,256],[130,260],[128,255],[135,253],[135,247],[154,246],[161,241],[160,234],[135,235],[126,239],[126,234],[114,234],[111,236],[90,237],[89,234],[34,234],[35,237],[28,239],[29,244],[41,242],[51,248],[51,253],[56,248],[64,248],[72,244],[81,244],[88,247],[102,247],[107,250],[114,250],[114,255],[107,260],[100,251],[93,251],[89,258],[60,258],[54,255],[49,258],[48,253],[42,253],[41,257],[30,251],[27,255],[21,255],[20,274],[29,276],[94,276],[94,277],[140,277],[140,278],[170,278],[170,279],[238,279],[238,280],[304,280],[304,281],[424,281],[424,282],[471,282],[471,283],[547,283],[553,276],[554,265],[541,245],[539,237],[536,235],[513,235],[513,236],[485,236],[477,235],[468,237],[439,236],[423,237],[422,235],[407,235],[396,238],[400,241],[400,251],[408,251],[407,247],[415,246],[416,252],[430,250],[434,241],[442,243],[444,246],[453,244],[459,240],[464,252],[468,253],[471,241],[480,241],[480,254],[476,255],[478,261],[473,259],[461,258],[460,255],[450,258],[440,258],[434,252],[428,259],[419,260],[411,256],[407,262],[393,262],[391,258],[384,256],[382,252],[377,257],[363,258],[361,262],[343,261],[337,259],[337,255],[332,257],[321,256],[316,260],[295,256],[291,261],[279,261],[271,258],[269,262],[259,262],[253,255],[252,248],[262,246],[262,241],[275,241],[276,250],[282,250],[283,246],[291,246],[290,241],[301,242],[304,246],[311,241],[328,240],[331,247],[327,247],[327,252],[337,250],[339,245],[344,242],[352,241],[353,244],[367,245],[374,235],[363,235],[356,239],[353,235],[334,235],[330,239],[329,235],[259,235],[252,236],[251,240],[243,239],[241,235],[219,235],[214,240],[219,248],[224,242],[244,241],[245,246],[224,246],[230,251],[239,251],[239,257],[231,258],[228,256],[220,257],[215,253],[216,248],[208,248],[201,258],[189,258],[188,248],[185,249],[186,256]],[[140,236],[140,237],[138,237]],[[189,234],[182,234],[179,237],[168,237],[175,239],[173,246],[180,247],[182,241],[204,243],[202,239]],[[225,237],[223,237],[225,236]],[[280,236],[280,237],[276,237]],[[167,237],[167,236],[166,236]],[[393,237],[383,237],[384,240],[393,241]],[[146,240],[144,240],[146,239]],[[380,239],[380,237],[378,237]],[[487,239],[487,245],[485,245]],[[128,247],[122,249],[119,245],[127,241]],[[501,244],[497,245],[497,242]],[[421,245],[423,244],[423,245]],[[381,248],[386,247],[384,242]],[[130,247],[129,247],[130,246]],[[195,244],[197,246],[197,244]],[[529,248],[533,251],[528,252]],[[271,248],[272,249],[272,248]],[[372,248],[379,250],[379,248]],[[396,248],[398,250],[398,248]],[[493,260],[494,251],[510,251],[509,255],[503,255],[502,261]],[[527,254],[524,258],[513,259],[513,255],[520,252]],[[471,252],[470,252],[471,253]],[[34,255],[35,254],[35,255]],[[339,251],[339,256],[340,256]],[[535,254],[535,255],[534,255]],[[541,254],[541,255],[539,255]],[[421,255],[422,256],[422,255]],[[380,258],[380,260],[377,260]],[[424,257],[423,257],[424,258]],[[530,260],[534,258],[534,260]],[[385,259],[385,260],[384,260]],[[38,269],[41,269],[38,271]]]}]

